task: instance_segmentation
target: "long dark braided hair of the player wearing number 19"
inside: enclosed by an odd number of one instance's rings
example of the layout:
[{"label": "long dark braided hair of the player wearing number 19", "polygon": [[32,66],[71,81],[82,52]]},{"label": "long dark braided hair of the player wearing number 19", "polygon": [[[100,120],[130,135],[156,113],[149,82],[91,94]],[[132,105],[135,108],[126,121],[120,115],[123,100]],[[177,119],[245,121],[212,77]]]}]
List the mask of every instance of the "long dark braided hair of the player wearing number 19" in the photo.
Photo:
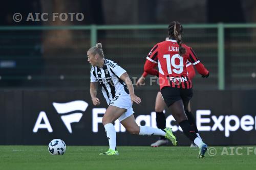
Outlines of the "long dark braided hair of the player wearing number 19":
[{"label": "long dark braided hair of the player wearing number 19", "polygon": [[181,40],[181,34],[183,33],[183,27],[180,24],[180,22],[178,21],[172,21],[169,24],[168,27],[168,34],[169,34],[169,38],[175,38],[177,43],[179,44],[179,55],[182,56],[186,53],[186,48],[184,48],[181,44],[182,44],[182,40]]}]

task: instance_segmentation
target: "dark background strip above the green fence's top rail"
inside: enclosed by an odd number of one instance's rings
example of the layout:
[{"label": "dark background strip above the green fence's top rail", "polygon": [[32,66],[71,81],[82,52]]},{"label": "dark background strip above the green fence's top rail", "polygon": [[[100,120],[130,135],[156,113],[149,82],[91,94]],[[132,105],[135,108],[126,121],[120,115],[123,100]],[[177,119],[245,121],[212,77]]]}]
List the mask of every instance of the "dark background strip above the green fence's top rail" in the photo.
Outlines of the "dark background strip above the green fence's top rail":
[{"label": "dark background strip above the green fence's top rail", "polygon": [[2,2],[0,25],[49,25],[48,22],[15,23],[12,15],[16,12],[24,16],[29,12],[82,12],[86,15],[82,22],[50,22],[50,25],[162,24],[172,20],[179,20],[181,23],[254,22],[255,5],[253,0],[190,0],[185,3],[179,0],[14,0]]}]

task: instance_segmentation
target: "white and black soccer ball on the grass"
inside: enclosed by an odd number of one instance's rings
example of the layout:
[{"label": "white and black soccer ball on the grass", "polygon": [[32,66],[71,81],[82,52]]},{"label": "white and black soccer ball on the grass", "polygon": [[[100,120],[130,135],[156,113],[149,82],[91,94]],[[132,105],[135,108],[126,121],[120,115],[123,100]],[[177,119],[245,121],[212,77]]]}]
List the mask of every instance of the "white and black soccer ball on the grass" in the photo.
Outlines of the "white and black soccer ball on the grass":
[{"label": "white and black soccer ball on the grass", "polygon": [[61,139],[53,139],[48,145],[48,150],[51,155],[63,155],[66,152],[66,144]]}]

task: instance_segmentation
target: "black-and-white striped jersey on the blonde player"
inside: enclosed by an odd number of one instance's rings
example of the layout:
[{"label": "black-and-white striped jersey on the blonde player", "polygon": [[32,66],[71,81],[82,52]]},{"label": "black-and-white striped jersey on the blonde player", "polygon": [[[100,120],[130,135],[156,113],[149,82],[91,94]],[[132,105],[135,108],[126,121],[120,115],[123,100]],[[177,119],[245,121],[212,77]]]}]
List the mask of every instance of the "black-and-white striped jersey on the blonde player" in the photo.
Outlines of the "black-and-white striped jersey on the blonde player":
[{"label": "black-and-white striped jersey on the blonde player", "polygon": [[110,104],[116,95],[129,94],[126,84],[120,76],[126,72],[117,63],[104,59],[102,68],[93,66],[91,69],[91,82],[99,82],[106,103]]}]

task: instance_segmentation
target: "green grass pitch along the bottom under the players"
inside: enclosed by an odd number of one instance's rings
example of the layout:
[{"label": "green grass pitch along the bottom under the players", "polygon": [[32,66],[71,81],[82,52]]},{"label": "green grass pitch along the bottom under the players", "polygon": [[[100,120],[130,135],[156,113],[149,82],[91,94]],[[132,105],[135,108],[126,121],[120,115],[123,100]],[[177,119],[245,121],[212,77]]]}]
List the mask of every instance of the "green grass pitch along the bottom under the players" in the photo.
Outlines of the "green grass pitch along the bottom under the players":
[{"label": "green grass pitch along the bottom under the players", "polygon": [[198,149],[189,147],[118,147],[118,156],[99,156],[108,147],[67,146],[59,156],[47,146],[0,145],[0,169],[256,169],[255,146],[248,147],[237,150],[239,155],[236,148],[215,147],[215,156],[199,159]]}]

